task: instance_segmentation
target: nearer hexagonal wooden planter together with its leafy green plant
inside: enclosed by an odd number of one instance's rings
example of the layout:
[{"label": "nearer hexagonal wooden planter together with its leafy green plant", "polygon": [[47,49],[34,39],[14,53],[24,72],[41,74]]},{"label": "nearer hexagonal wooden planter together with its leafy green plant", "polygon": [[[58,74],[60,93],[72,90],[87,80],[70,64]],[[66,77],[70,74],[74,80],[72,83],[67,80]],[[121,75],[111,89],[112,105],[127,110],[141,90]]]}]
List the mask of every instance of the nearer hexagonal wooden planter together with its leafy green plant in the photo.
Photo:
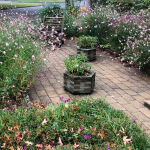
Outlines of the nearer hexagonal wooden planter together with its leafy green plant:
[{"label": "nearer hexagonal wooden planter together with its leafy green plant", "polygon": [[64,89],[72,94],[92,93],[95,86],[95,73],[87,64],[85,54],[69,56],[64,63],[67,69],[64,73]]}]

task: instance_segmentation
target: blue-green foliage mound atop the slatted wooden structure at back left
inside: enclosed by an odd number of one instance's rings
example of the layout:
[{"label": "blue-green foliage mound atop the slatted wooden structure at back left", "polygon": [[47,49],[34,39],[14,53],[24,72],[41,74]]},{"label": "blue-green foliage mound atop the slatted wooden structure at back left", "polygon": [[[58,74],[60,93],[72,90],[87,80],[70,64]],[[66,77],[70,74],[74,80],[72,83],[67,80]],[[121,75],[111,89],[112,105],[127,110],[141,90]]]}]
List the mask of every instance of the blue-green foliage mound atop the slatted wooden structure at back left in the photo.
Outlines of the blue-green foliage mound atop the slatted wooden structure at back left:
[{"label": "blue-green foliage mound atop the slatted wooden structure at back left", "polygon": [[63,10],[59,5],[47,5],[39,10],[39,15],[43,21],[45,17],[63,16]]}]

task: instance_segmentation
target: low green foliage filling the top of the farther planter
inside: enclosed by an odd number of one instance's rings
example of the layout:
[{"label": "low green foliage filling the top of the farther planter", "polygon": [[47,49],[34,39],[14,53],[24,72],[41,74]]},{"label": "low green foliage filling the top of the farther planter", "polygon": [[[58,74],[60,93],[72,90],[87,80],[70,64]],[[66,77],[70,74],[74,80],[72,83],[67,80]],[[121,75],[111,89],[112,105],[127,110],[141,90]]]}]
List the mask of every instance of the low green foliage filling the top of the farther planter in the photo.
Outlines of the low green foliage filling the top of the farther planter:
[{"label": "low green foliage filling the top of the farther planter", "polygon": [[79,38],[76,38],[76,43],[81,48],[94,48],[96,47],[98,43],[98,38],[83,35],[83,36],[80,36]]}]

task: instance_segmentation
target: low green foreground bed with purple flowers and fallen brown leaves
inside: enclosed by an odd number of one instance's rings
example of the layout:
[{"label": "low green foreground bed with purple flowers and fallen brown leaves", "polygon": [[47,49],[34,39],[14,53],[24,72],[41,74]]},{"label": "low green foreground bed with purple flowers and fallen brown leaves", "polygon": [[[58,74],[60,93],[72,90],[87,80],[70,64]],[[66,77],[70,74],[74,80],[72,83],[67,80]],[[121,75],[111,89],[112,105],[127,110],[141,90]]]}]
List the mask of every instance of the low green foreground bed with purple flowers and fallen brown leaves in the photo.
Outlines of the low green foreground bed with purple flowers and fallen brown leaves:
[{"label": "low green foreground bed with purple flowers and fallen brown leaves", "polygon": [[46,109],[36,102],[24,102],[17,109],[0,110],[0,139],[1,149],[67,145],[70,149],[150,148],[147,136],[122,111],[112,109],[104,100],[91,98],[61,98],[57,106]]}]

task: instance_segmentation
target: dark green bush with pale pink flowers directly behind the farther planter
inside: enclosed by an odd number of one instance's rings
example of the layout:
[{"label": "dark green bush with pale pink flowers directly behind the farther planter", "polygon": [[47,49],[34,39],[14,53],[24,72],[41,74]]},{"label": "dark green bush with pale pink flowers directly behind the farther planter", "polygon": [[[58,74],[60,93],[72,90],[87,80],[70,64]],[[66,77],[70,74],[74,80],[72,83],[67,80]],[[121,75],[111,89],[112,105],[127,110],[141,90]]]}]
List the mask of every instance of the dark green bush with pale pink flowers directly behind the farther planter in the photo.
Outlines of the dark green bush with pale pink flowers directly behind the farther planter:
[{"label": "dark green bush with pale pink flowers directly behind the farther planter", "polygon": [[99,8],[84,14],[81,18],[83,35],[96,36],[100,44],[104,44],[109,35],[109,22],[105,14],[105,9]]}]

